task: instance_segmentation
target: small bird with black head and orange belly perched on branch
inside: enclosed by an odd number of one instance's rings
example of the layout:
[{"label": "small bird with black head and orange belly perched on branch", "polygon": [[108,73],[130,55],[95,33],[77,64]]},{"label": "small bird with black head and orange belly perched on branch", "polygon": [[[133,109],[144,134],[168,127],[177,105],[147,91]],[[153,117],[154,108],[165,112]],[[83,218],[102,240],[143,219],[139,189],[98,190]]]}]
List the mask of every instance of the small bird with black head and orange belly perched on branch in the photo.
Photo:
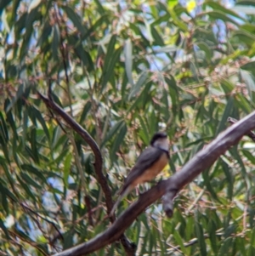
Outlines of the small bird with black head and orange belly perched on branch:
[{"label": "small bird with black head and orange belly perched on branch", "polygon": [[154,134],[150,140],[150,146],[141,153],[134,167],[127,175],[127,179],[122,186],[116,203],[111,209],[110,215],[112,216],[122,198],[127,196],[136,185],[154,179],[167,166],[169,158],[167,134],[162,132]]}]

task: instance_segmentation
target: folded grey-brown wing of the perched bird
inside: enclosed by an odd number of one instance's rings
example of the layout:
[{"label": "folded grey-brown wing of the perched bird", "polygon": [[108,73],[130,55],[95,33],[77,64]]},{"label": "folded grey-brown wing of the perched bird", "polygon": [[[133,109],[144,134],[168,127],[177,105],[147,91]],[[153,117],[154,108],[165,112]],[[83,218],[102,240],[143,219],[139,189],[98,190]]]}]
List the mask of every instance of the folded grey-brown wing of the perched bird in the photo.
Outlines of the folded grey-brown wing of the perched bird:
[{"label": "folded grey-brown wing of the perched bird", "polygon": [[161,149],[152,146],[146,148],[139,156],[130,173],[127,175],[127,179],[125,180],[122,190],[120,191],[120,195],[122,195],[122,193],[126,191],[127,187],[131,185],[135,179],[142,175],[146,169],[150,168],[150,166],[160,158],[161,154]]}]

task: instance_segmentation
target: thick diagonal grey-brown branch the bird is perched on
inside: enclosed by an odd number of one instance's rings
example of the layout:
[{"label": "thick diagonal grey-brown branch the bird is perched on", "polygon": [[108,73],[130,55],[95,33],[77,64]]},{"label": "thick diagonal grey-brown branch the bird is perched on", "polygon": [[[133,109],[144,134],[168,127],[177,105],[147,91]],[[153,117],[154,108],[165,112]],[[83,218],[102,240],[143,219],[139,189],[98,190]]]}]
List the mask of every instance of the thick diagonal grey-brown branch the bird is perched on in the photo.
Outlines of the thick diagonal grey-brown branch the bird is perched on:
[{"label": "thick diagonal grey-brown branch the bird is perched on", "polygon": [[199,151],[187,162],[178,173],[173,174],[169,179],[162,180],[139,196],[139,200],[127,208],[108,230],[88,242],[71,247],[62,253],[56,253],[54,256],[82,256],[115,242],[145,208],[148,208],[166,193],[173,195],[180,191],[184,185],[187,185],[198,174],[201,174],[203,170],[211,167],[218,156],[227,151],[232,145],[235,145],[252,128],[255,128],[255,111],[219,134],[205,149]]}]

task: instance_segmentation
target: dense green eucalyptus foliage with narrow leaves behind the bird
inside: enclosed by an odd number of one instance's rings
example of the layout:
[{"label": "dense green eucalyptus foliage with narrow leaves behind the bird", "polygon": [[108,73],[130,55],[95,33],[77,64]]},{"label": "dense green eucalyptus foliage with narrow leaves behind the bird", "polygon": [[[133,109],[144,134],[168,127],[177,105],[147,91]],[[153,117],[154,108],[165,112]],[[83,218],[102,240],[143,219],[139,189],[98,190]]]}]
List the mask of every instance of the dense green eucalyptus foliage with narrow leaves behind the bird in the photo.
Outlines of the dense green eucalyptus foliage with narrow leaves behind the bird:
[{"label": "dense green eucalyptus foliage with narrow leaves behind the bird", "polygon": [[[0,2],[1,254],[48,255],[109,226],[91,149],[37,90],[52,84],[94,137],[114,198],[157,130],[167,130],[176,172],[229,116],[254,109],[255,3],[190,2]],[[139,255],[254,255],[254,167],[243,138],[178,195],[173,219],[158,202],[126,236]],[[94,255],[106,253],[123,248]]]}]

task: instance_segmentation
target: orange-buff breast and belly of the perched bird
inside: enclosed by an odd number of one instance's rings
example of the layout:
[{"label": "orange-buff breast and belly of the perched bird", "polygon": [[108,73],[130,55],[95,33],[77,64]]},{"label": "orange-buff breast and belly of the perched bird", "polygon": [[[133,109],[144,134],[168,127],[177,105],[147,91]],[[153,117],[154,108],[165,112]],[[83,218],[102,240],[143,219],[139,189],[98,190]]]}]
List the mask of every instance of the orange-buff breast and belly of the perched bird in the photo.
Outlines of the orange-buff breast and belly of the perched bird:
[{"label": "orange-buff breast and belly of the perched bird", "polygon": [[139,176],[138,179],[135,179],[133,185],[138,185],[146,181],[154,179],[157,174],[161,172],[163,168],[166,167],[168,163],[168,157],[166,153],[163,153],[161,157],[150,167],[144,170],[144,173]]}]

